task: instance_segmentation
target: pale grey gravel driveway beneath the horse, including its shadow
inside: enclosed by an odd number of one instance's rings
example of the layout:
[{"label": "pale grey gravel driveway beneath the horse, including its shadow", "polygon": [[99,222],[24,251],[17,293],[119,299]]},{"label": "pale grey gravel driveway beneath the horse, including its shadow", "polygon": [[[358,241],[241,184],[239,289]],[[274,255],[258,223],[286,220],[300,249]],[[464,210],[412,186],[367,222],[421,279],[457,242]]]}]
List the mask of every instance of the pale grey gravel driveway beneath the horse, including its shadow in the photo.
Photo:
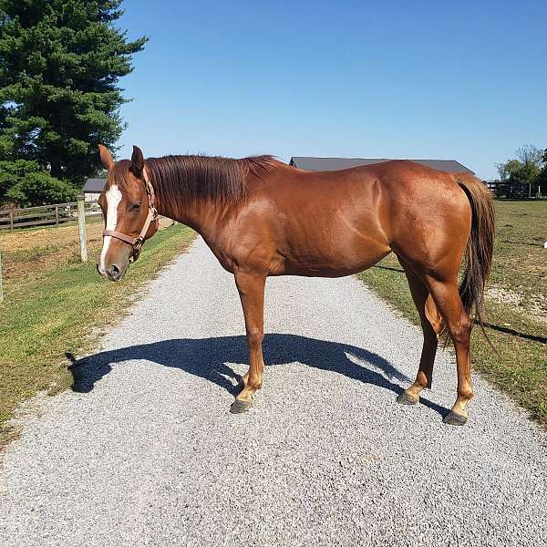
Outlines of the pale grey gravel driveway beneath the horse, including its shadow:
[{"label": "pale grey gravel driveway beneath the horse, including its shadow", "polygon": [[547,439],[475,378],[463,428],[440,354],[423,404],[395,398],[421,333],[356,280],[267,284],[263,390],[232,275],[201,239],[27,405],[1,456],[0,545],[547,545]]}]

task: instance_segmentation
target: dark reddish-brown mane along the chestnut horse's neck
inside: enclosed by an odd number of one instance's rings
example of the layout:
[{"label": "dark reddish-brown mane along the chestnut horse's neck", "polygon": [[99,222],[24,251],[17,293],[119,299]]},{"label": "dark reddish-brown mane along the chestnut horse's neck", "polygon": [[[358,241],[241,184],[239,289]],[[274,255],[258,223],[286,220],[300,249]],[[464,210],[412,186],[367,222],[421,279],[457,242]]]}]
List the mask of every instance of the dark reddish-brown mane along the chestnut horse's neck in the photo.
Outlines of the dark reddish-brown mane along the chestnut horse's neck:
[{"label": "dark reddish-brown mane along the chestnut horse's neck", "polygon": [[249,173],[262,177],[278,163],[273,156],[232,160],[211,156],[164,156],[145,161],[150,181],[161,199],[201,198],[238,201],[247,193]]}]

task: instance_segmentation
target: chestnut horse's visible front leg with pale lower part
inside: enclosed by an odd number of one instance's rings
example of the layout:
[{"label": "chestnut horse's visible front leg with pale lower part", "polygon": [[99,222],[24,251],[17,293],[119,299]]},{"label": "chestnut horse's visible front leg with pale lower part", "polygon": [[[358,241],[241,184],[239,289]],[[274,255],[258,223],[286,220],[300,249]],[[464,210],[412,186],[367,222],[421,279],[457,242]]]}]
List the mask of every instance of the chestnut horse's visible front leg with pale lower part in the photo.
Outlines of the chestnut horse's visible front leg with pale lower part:
[{"label": "chestnut horse's visible front leg with pale lower part", "polygon": [[243,377],[243,390],[232,403],[230,411],[239,414],[253,405],[253,394],[262,387],[263,378],[263,313],[264,285],[266,278],[261,274],[236,271],[235,284],[242,300],[247,344],[249,346],[249,371]]}]

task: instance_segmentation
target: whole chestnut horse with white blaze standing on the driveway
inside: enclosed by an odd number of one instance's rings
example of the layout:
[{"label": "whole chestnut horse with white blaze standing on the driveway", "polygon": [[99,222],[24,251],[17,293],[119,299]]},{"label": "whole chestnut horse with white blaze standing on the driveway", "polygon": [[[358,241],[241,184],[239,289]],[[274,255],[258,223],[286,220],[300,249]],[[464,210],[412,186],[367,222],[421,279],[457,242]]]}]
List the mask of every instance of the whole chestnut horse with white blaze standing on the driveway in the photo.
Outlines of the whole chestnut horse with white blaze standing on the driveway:
[{"label": "whole chestnut horse with white blaze standing on the driveway", "polygon": [[112,281],[123,277],[158,229],[157,209],[199,232],[234,275],[249,370],[232,412],[250,408],[262,387],[266,277],[356,274],[393,252],[407,275],[424,333],[416,381],[397,401],[413,405],[431,386],[438,336],[446,329],[456,349],[458,391],[444,421],[467,421],[473,397],[470,315],[480,321],[494,236],[492,198],[481,181],[407,160],[311,172],[270,156],[144,160],[134,147],[131,160],[115,162],[105,147],[99,149],[108,170],[99,198],[106,219],[100,274]]}]

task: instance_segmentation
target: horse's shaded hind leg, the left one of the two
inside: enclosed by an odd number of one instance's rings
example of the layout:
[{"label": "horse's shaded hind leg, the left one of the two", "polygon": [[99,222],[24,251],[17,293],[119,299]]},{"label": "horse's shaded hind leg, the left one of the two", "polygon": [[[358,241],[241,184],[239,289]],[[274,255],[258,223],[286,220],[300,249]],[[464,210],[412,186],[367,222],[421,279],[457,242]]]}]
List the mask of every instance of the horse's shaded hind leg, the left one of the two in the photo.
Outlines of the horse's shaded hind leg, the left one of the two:
[{"label": "horse's shaded hind leg, the left one of the two", "polygon": [[412,299],[418,309],[419,320],[424,333],[424,344],[422,346],[416,380],[412,386],[408,387],[397,397],[397,403],[402,405],[414,405],[418,403],[421,390],[425,387],[431,387],[433,364],[435,362],[438,345],[437,335],[442,328],[442,322],[433,320],[439,318],[432,314],[427,314],[426,312],[427,304],[431,304],[430,300],[428,302],[428,287],[400,257],[399,263],[401,263],[405,270],[405,274],[407,274],[410,293],[412,294]]}]

